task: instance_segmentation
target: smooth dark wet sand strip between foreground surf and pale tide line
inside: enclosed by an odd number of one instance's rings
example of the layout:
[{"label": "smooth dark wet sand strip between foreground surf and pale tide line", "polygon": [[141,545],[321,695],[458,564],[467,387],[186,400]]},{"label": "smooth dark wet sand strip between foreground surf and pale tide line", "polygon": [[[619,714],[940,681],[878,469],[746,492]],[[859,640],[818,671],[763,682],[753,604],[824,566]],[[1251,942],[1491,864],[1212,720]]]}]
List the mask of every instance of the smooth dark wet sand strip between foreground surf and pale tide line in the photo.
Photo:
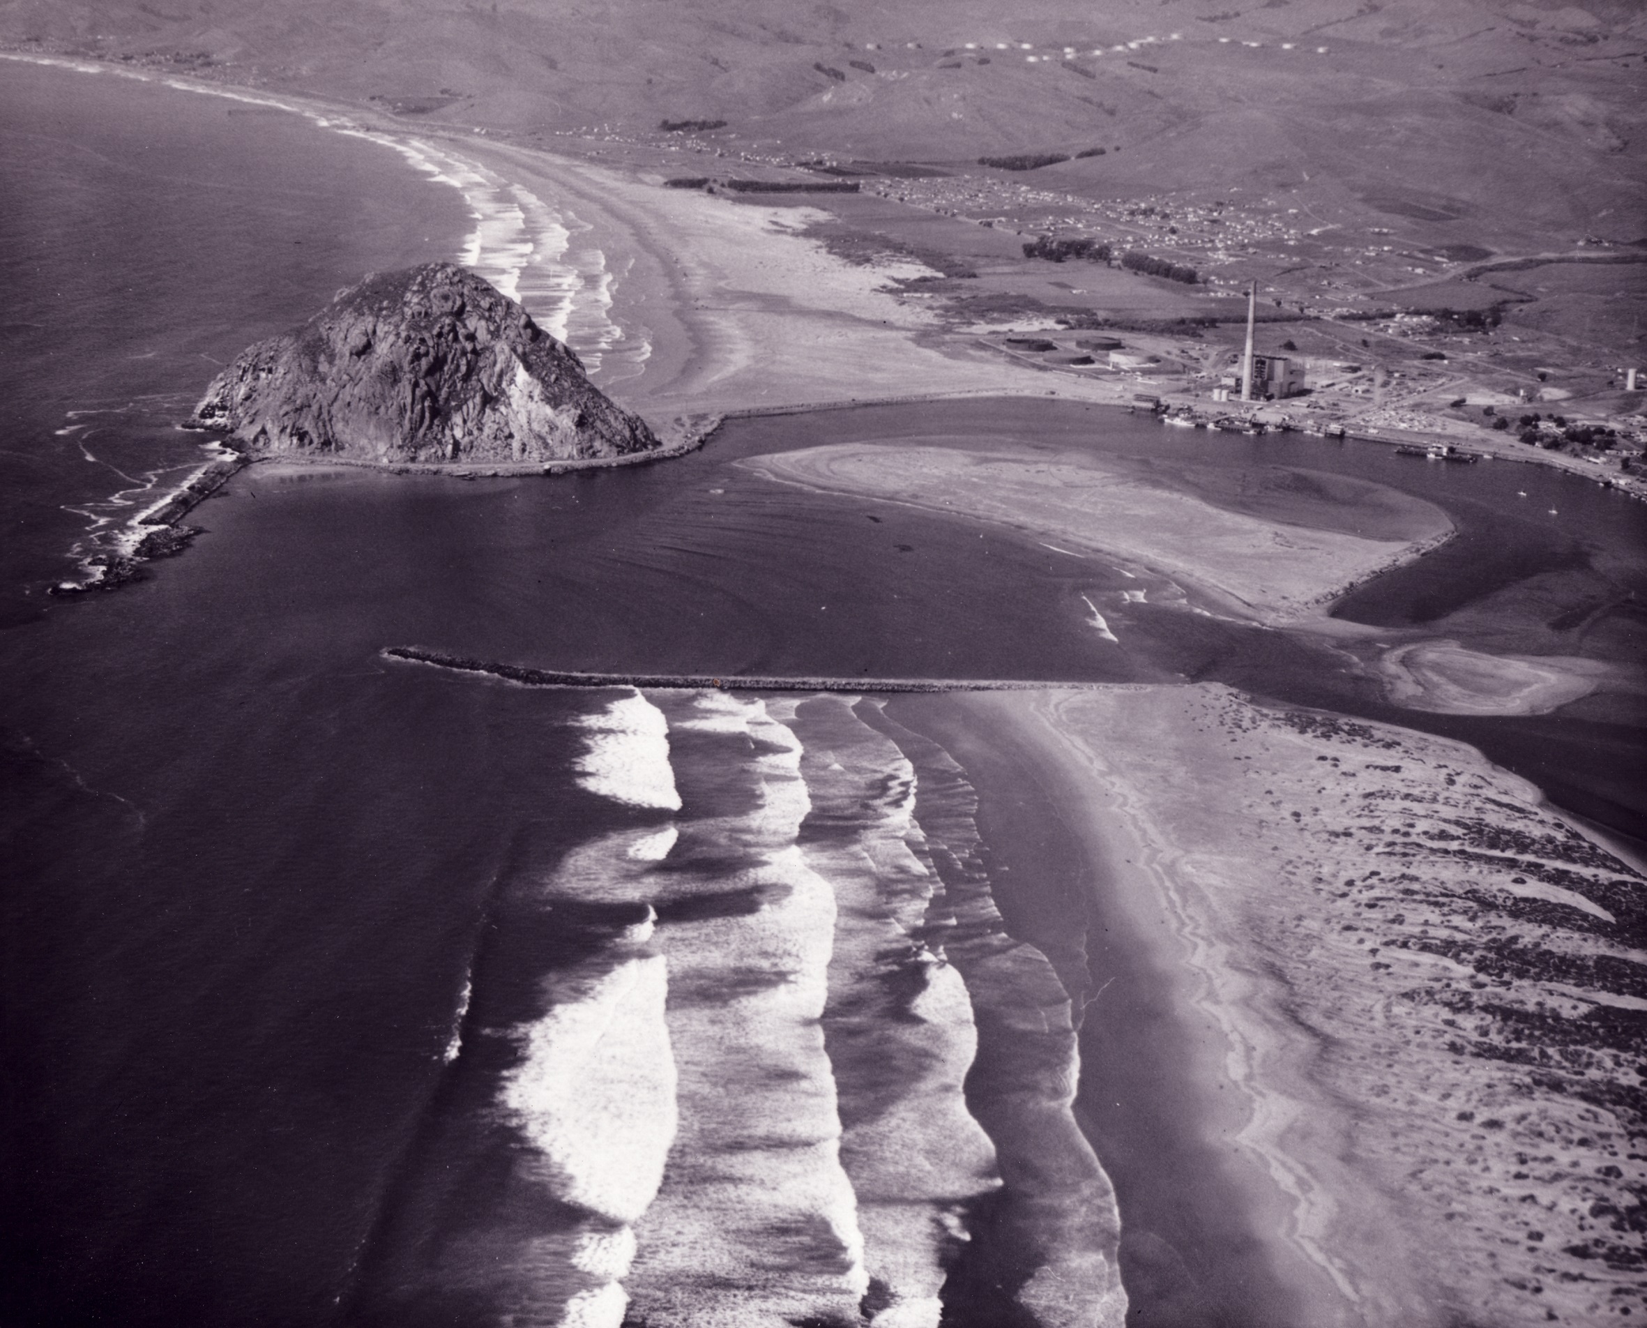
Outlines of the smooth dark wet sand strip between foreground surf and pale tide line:
[{"label": "smooth dark wet sand strip between foreground surf and pale tide line", "polygon": [[1122,1279],[1143,1321],[1321,1328],[1298,1316],[1313,1272],[1276,1249],[1268,1170],[1225,1142],[1243,1120],[1211,1087],[1224,1056],[1187,1005],[1181,918],[1148,916],[1153,880],[1118,789],[1069,779],[1026,718],[1062,690],[899,699],[891,713],[963,765],[1010,931],[1054,959],[1080,1008],[1075,1115],[1117,1188]]}]

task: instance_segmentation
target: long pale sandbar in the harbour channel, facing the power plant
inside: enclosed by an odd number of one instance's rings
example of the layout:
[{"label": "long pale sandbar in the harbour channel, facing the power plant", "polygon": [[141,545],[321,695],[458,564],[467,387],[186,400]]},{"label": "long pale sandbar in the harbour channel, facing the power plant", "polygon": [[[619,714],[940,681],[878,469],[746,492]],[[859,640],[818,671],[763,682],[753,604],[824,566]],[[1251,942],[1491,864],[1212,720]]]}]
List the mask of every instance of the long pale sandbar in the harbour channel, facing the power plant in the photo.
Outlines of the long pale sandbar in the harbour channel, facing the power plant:
[{"label": "long pale sandbar in the harbour channel, facing the power plant", "polygon": [[1089,458],[978,455],[914,442],[833,443],[740,461],[768,479],[879,498],[1028,531],[1181,577],[1219,608],[1262,623],[1301,618],[1418,557],[1425,540],[1372,540],[1214,507]]}]

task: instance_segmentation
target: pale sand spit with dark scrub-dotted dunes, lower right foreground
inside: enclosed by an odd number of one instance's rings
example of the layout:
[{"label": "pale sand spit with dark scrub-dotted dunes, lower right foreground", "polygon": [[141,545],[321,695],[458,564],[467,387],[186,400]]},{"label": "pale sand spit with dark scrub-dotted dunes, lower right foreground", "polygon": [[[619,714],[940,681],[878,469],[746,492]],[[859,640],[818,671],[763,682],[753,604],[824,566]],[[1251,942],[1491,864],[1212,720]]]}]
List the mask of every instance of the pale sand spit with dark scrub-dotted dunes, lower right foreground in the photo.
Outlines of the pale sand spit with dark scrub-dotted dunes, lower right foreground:
[{"label": "pale sand spit with dark scrub-dotted dunes, lower right foreground", "polygon": [[973,697],[1189,975],[1303,1325],[1640,1310],[1647,881],[1459,743],[1217,685]]}]

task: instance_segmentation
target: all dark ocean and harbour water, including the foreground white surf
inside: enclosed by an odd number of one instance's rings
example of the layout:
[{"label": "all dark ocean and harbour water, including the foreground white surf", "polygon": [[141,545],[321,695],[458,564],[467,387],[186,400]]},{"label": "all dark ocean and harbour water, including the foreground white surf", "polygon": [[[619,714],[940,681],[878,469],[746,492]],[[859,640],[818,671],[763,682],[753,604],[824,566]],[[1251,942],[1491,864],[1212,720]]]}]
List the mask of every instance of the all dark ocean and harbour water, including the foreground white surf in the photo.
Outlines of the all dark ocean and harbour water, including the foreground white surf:
[{"label": "all dark ocean and harbour water, including the foreground white surf", "polygon": [[[476,204],[501,181],[453,188],[430,145],[12,64],[0,97],[26,129],[0,148],[20,204],[0,208],[8,1323],[868,1307],[888,1328],[940,1308],[985,1328],[1024,1305],[1085,1323],[1117,1293],[1125,1213],[1075,1124],[1085,938],[1046,939],[1069,872],[1005,888],[987,834],[1008,804],[980,811],[939,702],[529,689],[385,646],[1214,677],[1456,732],[1635,824],[1627,695],[1535,720],[1400,712],[1341,657],[1140,598],[1099,559],[731,465],[942,432],[1211,466],[1197,483],[1232,503],[1217,473],[1349,475],[1466,535],[1346,613],[1482,648],[1639,649],[1640,509],[1616,494],[1052,400],[740,420],[703,453],[553,484],[254,468],[148,580],[41,615],[89,526],[138,501],[102,506],[122,484],[198,463],[171,422],[214,361],[361,270],[461,255],[483,231],[471,257],[529,300],[573,282],[547,260],[532,275],[507,199]],[[1033,804],[1016,811],[1033,839]],[[1151,1231],[1171,1244],[1140,1264],[1158,1277],[1219,1254],[1192,1221]],[[1230,1282],[1181,1321],[1273,1321],[1267,1295]]]}]

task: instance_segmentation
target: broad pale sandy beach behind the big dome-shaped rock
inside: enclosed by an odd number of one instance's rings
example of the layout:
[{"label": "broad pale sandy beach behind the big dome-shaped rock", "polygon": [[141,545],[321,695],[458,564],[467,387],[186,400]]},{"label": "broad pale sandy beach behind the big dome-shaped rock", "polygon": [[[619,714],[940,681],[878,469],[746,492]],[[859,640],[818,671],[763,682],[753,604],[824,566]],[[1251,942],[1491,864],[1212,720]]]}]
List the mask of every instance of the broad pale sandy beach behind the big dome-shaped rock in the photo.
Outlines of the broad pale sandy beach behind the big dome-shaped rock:
[{"label": "broad pale sandy beach behind the big dome-shaped rock", "polygon": [[656,171],[502,143],[463,152],[565,204],[621,255],[611,316],[644,328],[652,354],[609,390],[649,417],[944,392],[1130,397],[1117,384],[1054,377],[982,348],[927,344],[935,320],[888,288],[922,269],[830,255],[799,234],[827,219],[815,208],[669,189]]}]

